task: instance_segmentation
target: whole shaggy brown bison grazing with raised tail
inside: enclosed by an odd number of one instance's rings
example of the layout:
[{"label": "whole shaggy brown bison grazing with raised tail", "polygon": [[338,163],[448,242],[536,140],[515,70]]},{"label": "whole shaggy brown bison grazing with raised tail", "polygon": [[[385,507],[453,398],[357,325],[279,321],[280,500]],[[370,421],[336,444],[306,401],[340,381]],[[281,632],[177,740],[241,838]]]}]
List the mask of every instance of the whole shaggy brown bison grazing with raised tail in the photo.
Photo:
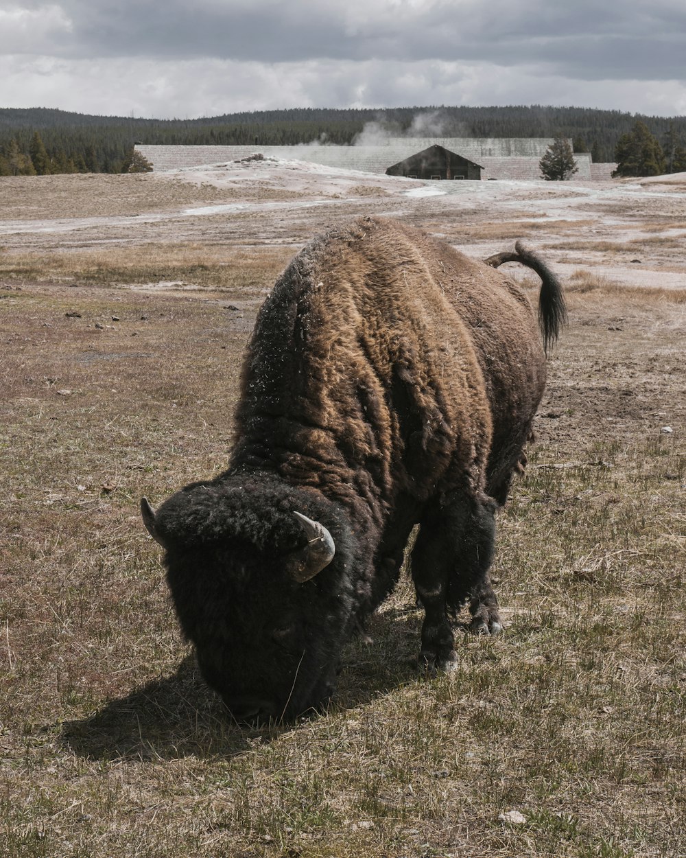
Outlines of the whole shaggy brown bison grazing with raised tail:
[{"label": "whole shaggy brown bison grazing with raised tail", "polygon": [[474,631],[500,631],[494,514],[545,384],[534,313],[495,270],[510,261],[543,281],[547,348],[562,293],[520,245],[478,263],[376,218],[315,239],[257,318],[229,468],[157,513],[143,500],[184,633],[238,720],[328,699],[415,524],[420,668],[454,668],[466,602]]}]

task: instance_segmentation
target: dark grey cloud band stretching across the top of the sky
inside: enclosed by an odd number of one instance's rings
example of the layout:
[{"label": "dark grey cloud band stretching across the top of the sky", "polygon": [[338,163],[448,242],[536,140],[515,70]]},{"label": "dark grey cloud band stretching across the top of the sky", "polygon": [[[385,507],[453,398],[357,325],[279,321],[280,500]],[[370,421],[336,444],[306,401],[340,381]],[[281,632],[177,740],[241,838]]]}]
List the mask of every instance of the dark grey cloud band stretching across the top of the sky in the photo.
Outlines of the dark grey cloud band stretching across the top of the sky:
[{"label": "dark grey cloud band stretching across the top of the sky", "polygon": [[[60,57],[201,57],[302,62],[306,59],[538,64],[549,74],[593,79],[671,80],[684,76],[682,0],[57,0],[41,7],[54,27],[33,39]],[[59,10],[59,13],[57,13]],[[43,44],[42,44],[43,43]],[[27,45],[23,50],[31,52]]]}]

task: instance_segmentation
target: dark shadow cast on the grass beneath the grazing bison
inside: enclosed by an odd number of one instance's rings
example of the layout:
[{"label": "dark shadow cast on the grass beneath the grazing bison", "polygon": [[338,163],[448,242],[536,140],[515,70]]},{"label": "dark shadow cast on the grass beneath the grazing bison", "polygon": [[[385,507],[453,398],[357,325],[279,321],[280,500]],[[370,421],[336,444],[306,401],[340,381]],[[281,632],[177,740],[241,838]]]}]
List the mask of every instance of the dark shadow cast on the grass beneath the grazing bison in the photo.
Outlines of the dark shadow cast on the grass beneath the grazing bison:
[{"label": "dark shadow cast on the grass beneath the grazing bison", "polygon": [[[344,651],[328,711],[311,717],[368,704],[415,677],[420,619],[410,607],[373,616],[367,634]],[[202,681],[195,656],[187,656],[175,674],[111,700],[92,716],[64,722],[62,742],[79,757],[99,760],[232,757],[293,728],[292,722],[252,727],[233,722]]]}]

